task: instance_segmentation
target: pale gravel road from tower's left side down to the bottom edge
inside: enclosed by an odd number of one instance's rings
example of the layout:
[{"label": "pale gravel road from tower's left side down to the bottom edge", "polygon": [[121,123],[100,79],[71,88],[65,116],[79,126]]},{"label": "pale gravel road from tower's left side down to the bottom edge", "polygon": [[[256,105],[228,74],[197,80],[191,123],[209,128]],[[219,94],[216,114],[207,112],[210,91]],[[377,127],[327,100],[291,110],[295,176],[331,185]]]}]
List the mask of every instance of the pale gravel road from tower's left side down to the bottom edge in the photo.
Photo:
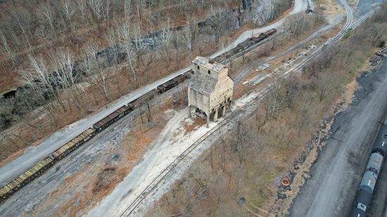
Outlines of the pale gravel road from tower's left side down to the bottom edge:
[{"label": "pale gravel road from tower's left side down to the bottom edge", "polygon": [[[144,182],[158,176],[158,173],[152,171],[163,169],[165,166],[163,162],[173,160],[181,152],[183,144],[175,144],[174,138],[178,136],[177,129],[186,117],[188,117],[188,109],[182,110],[170,119],[163,131],[152,141],[150,150],[146,152],[141,162],[134,166],[110,195],[94,207],[89,216],[120,216],[120,213],[125,211],[125,204],[130,202],[128,197],[139,194]],[[175,149],[177,151],[174,152]]]}]

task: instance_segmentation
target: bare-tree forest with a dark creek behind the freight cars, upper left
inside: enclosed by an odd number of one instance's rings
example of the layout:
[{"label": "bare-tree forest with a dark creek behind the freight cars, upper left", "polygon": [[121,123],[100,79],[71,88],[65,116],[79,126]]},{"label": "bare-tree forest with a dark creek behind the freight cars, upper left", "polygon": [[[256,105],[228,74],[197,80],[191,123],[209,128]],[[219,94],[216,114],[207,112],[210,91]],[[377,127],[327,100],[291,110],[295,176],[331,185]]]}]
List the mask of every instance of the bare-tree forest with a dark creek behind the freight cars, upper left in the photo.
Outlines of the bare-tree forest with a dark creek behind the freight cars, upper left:
[{"label": "bare-tree forest with a dark creek behind the freight cars, upper left", "polygon": [[[280,2],[276,16],[291,1]],[[256,13],[236,0],[13,0],[0,8],[0,91],[20,86],[0,99],[0,140],[11,145],[4,156],[210,54],[236,20],[248,24]]]}]

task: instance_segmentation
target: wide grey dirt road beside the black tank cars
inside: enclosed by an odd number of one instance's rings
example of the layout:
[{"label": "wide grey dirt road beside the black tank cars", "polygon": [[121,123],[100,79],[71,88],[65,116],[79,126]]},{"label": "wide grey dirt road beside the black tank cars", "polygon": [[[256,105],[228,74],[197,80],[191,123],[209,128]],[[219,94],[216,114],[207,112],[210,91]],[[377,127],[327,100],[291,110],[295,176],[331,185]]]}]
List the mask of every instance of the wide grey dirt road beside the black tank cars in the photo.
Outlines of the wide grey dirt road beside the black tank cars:
[{"label": "wide grey dirt road beside the black tank cars", "polygon": [[387,111],[387,58],[358,79],[353,103],[338,114],[290,216],[348,216]]}]

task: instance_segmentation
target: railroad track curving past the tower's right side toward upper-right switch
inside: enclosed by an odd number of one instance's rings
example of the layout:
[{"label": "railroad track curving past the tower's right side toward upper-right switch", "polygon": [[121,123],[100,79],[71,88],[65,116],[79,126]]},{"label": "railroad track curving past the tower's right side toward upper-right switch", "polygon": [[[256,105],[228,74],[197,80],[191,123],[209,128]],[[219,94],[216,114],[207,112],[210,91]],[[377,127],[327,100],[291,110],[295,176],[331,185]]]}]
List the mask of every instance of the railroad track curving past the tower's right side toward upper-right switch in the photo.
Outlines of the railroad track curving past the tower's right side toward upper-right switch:
[{"label": "railroad track curving past the tower's right side toward upper-right switch", "polygon": [[[344,34],[346,34],[349,29],[359,26],[362,22],[364,22],[364,20],[366,20],[372,14],[374,14],[375,11],[377,11],[377,9],[379,8],[378,7],[374,11],[367,13],[367,15],[364,15],[362,18],[360,18],[359,20],[353,23],[353,13],[350,9],[350,6],[348,6],[345,0],[341,0],[341,4],[343,4],[345,11],[347,13],[347,20],[345,22],[345,25],[341,29],[341,31],[338,32],[338,34],[336,34],[334,38],[327,41],[327,43],[324,44],[324,46],[330,46],[334,42],[338,41],[338,39],[341,39],[341,37],[343,37]],[[298,72],[305,65],[310,63],[312,59],[316,58],[317,55],[321,54],[322,48],[324,46],[320,46],[317,49],[317,51],[315,51],[315,53],[313,53],[308,58],[303,60],[296,67],[293,67],[291,70],[288,70],[287,72],[285,72],[283,76],[288,77],[290,74]],[[186,150],[184,150],[184,152],[180,154],[179,157],[177,157],[172,163],[170,163],[165,169],[163,169],[163,171],[158,176],[156,176],[156,178],[154,178],[149,185],[146,186],[146,188],[141,192],[141,194],[138,197],[136,197],[136,199],[134,199],[134,201],[131,204],[129,204],[129,206],[127,206],[127,208],[122,214],[120,214],[120,217],[131,216],[132,214],[135,214],[134,210],[141,204],[141,202],[143,202],[144,199],[146,199],[146,197],[150,195],[151,192],[153,192],[153,190],[156,190],[156,188],[158,187],[158,184],[160,184],[163,180],[165,180],[167,175],[170,174],[172,170],[175,169],[179,165],[179,163],[183,161],[183,159],[185,159],[192,151],[194,151],[196,147],[198,147],[198,145],[203,143],[205,139],[212,136],[214,133],[217,133],[218,131],[223,129],[224,126],[228,126],[231,122],[235,122],[239,120],[239,117],[241,117],[241,114],[244,114],[245,112],[249,112],[249,110],[255,108],[258,105],[258,102],[265,96],[267,92],[268,92],[268,88],[263,88],[263,90],[260,91],[258,93],[258,96],[253,98],[253,100],[251,100],[249,103],[241,107],[239,110],[232,112],[228,117],[225,117],[222,121],[220,121],[219,124],[217,124],[217,126],[210,129],[210,131],[205,133],[203,136],[201,136],[201,138],[196,140],[195,143],[193,143]]]}]

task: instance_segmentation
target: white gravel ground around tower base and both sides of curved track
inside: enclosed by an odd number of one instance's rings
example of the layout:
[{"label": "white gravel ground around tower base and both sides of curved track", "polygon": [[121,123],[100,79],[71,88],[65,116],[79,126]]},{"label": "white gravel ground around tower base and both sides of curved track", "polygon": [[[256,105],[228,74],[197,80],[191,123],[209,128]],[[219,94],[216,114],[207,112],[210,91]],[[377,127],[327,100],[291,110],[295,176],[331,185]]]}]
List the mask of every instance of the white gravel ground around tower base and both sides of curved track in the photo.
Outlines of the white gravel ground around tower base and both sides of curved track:
[{"label": "white gravel ground around tower base and both sides of curved track", "polygon": [[[265,88],[264,90],[255,91],[236,100],[233,107],[231,107],[231,110],[237,110],[243,105],[246,105],[246,103],[253,100],[253,98],[262,93],[262,91],[265,91]],[[208,128],[206,126],[201,126],[184,135],[184,123],[193,123],[192,119],[187,117],[188,108],[177,113],[175,117],[170,119],[167,126],[165,126],[165,129],[163,129],[160,135],[153,140],[151,149],[144,154],[141,162],[134,167],[110,195],[89,212],[89,216],[120,216],[149,183],[182,154],[186,148],[195,143],[196,140],[210,131],[210,129],[217,126],[217,122],[210,122]],[[222,121],[222,119],[223,118],[218,121]],[[205,142],[198,145],[198,147],[189,154],[189,157],[184,159],[184,163],[182,162],[172,171],[172,176],[163,183],[160,183],[157,190],[152,192],[152,195],[141,204],[140,209],[137,210],[136,216],[141,216],[141,213],[138,213],[138,211],[146,211],[144,207],[152,206],[153,202],[160,199],[175,180],[181,178],[186,170],[189,169],[191,163],[194,162],[194,160],[197,159],[197,157],[206,150],[213,141],[220,138],[220,136],[223,136],[224,133],[231,128],[232,124],[229,124],[229,126],[224,127],[220,133],[215,133],[214,136],[210,136]]]}]

